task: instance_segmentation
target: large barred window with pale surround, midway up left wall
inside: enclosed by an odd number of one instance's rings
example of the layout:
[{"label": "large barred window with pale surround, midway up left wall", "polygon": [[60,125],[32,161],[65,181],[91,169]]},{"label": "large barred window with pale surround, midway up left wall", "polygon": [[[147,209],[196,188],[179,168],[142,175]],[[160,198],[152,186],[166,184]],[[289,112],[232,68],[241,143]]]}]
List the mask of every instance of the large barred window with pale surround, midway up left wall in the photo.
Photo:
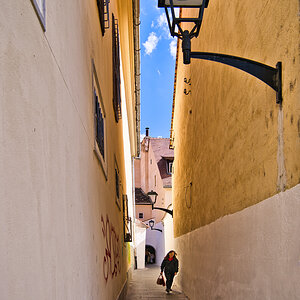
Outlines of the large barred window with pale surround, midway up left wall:
[{"label": "large barred window with pale surround, midway up left wall", "polygon": [[94,152],[96,153],[96,156],[104,172],[105,178],[107,179],[105,110],[94,62],[92,63],[92,68],[94,107]]}]

